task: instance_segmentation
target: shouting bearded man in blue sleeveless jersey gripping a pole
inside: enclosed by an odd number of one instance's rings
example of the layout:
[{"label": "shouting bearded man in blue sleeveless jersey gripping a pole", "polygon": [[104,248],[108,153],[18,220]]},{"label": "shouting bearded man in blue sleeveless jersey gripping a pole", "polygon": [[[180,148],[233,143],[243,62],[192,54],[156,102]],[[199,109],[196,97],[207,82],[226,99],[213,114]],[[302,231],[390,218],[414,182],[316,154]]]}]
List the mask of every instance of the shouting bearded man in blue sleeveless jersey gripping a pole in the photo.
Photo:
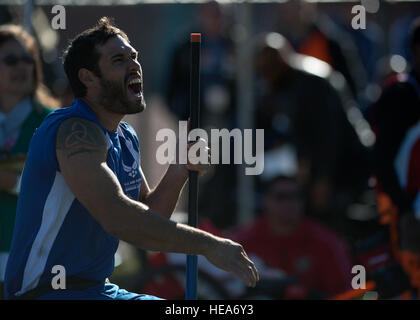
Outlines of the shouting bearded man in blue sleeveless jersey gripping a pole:
[{"label": "shouting bearded man in blue sleeveless jersey gripping a pole", "polygon": [[[6,270],[9,299],[154,299],[109,283],[119,239],[146,250],[204,255],[255,286],[242,246],[169,220],[188,171],[173,164],[154,190],[135,131],[122,118],[145,107],[138,53],[107,18],[73,39],[64,69],[76,99],[36,131],[22,177]],[[54,290],[52,270],[66,271]]]}]

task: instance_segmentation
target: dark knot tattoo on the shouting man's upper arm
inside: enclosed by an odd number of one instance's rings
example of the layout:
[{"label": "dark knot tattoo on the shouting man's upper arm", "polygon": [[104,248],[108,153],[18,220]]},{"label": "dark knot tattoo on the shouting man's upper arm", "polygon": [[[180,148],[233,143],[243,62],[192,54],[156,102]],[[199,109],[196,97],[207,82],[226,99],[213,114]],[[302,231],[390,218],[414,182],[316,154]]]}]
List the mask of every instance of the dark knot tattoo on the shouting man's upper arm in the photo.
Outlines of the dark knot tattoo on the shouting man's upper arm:
[{"label": "dark knot tattoo on the shouting man's upper arm", "polygon": [[86,119],[65,120],[57,133],[57,150],[64,152],[67,159],[80,153],[103,152],[106,145],[100,128]]}]

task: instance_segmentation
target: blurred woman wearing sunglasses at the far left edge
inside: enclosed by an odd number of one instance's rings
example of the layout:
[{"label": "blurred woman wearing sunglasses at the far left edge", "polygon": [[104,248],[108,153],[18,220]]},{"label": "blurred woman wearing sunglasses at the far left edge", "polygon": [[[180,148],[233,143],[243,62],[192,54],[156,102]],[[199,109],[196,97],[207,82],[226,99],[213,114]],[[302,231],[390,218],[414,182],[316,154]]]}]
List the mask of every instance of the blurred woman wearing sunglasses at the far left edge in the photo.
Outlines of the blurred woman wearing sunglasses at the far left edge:
[{"label": "blurred woman wearing sunglasses at the far left edge", "polygon": [[42,84],[35,39],[18,25],[0,26],[0,299],[25,155],[56,106]]}]

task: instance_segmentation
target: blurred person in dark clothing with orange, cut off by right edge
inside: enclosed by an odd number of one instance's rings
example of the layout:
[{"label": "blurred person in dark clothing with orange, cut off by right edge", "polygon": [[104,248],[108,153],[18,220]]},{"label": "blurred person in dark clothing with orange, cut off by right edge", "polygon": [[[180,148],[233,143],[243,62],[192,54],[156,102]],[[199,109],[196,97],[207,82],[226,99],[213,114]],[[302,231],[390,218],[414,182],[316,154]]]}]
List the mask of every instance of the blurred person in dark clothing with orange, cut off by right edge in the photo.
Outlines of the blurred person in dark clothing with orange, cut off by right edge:
[{"label": "blurred person in dark clothing with orange, cut off by right edge", "polygon": [[410,28],[409,73],[391,75],[372,105],[377,198],[381,222],[389,225],[393,254],[420,297],[420,18]]}]

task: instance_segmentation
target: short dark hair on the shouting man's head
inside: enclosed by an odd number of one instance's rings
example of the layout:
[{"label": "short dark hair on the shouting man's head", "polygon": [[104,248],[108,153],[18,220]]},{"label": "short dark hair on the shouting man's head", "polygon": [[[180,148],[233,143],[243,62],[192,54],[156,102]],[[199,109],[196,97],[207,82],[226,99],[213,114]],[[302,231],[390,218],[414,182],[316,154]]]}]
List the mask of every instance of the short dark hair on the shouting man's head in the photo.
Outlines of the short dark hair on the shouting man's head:
[{"label": "short dark hair on the shouting man's head", "polygon": [[63,54],[63,65],[76,98],[86,95],[86,86],[79,80],[79,70],[85,68],[100,77],[100,54],[97,46],[104,45],[110,38],[118,35],[129,42],[124,31],[115,27],[109,18],[102,17],[96,26],[83,31],[70,41]]}]

